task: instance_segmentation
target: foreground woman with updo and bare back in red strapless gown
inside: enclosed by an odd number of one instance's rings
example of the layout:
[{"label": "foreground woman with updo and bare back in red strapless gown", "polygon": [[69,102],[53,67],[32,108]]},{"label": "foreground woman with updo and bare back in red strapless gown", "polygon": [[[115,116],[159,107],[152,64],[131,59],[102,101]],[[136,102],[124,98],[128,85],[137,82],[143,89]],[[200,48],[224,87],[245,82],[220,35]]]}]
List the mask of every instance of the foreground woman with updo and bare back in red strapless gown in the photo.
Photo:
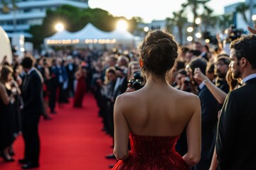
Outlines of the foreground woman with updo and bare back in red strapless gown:
[{"label": "foreground woman with updo and bare back in red strapless gown", "polygon": [[[142,40],[139,54],[146,84],[115,101],[114,155],[119,162],[113,169],[189,169],[201,155],[201,106],[198,96],[168,83],[178,45],[170,33],[154,30]],[[175,145],[185,128],[188,152],[181,156]]]}]

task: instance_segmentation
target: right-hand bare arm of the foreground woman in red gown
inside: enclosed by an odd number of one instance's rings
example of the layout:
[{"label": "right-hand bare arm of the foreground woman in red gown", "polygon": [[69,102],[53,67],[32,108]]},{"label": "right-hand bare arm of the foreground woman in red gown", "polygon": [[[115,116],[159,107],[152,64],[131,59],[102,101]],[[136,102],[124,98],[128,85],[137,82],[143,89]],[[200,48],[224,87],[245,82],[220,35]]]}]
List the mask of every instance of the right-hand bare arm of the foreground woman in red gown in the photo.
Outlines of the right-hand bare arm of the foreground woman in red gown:
[{"label": "right-hand bare arm of the foreground woman in red gown", "polygon": [[200,161],[201,157],[201,104],[197,96],[191,100],[193,114],[186,128],[188,152],[183,156],[188,166],[193,166]]}]

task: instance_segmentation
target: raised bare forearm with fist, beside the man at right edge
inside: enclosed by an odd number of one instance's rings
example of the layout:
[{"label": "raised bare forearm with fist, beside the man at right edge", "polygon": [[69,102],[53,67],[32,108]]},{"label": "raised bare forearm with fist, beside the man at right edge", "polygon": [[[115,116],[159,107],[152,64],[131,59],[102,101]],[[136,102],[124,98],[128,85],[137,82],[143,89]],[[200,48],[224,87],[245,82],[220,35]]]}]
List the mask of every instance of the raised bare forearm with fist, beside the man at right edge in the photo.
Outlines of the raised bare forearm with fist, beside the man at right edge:
[{"label": "raised bare forearm with fist, beside the man at right edge", "polygon": [[208,77],[203,75],[203,73],[201,72],[201,70],[199,68],[195,69],[194,78],[199,79],[206,84],[210,93],[213,94],[214,98],[216,98],[218,103],[220,103],[220,104],[224,103],[225,97],[227,96],[227,94],[224,91],[220,90],[217,86],[215,86],[215,84],[213,84],[213,82],[210,81],[210,79],[208,79]]}]

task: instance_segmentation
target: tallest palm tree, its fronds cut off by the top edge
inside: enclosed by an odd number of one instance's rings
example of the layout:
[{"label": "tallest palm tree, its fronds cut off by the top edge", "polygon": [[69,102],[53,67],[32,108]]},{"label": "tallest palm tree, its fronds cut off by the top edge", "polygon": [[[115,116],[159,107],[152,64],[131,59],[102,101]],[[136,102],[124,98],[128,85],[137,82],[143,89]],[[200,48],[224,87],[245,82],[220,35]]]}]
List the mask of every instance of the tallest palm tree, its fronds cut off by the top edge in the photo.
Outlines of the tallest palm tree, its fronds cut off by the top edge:
[{"label": "tallest palm tree, its fronds cut off by the top edge", "polygon": [[210,0],[187,0],[186,3],[183,3],[181,4],[181,6],[185,9],[185,8],[188,8],[190,7],[192,9],[192,12],[193,12],[193,27],[195,28],[196,26],[196,18],[198,17],[198,12],[197,12],[197,9],[200,7],[200,6],[203,6],[203,7],[207,7],[206,6],[206,3],[210,1]]}]

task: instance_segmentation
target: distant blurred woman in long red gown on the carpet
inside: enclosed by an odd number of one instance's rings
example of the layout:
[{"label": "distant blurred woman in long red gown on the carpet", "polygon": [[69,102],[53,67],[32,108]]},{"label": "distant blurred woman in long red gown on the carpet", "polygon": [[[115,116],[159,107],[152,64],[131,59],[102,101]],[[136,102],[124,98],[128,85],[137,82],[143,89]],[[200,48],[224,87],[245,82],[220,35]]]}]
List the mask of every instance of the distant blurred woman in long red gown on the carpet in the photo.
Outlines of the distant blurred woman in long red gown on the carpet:
[{"label": "distant blurred woman in long red gown on the carpet", "polygon": [[80,66],[78,68],[78,71],[75,72],[75,79],[78,80],[78,83],[75,89],[75,96],[74,96],[74,103],[73,103],[73,106],[75,108],[82,107],[82,100],[84,98],[85,91],[86,91],[85,77],[86,77],[86,69]]}]

